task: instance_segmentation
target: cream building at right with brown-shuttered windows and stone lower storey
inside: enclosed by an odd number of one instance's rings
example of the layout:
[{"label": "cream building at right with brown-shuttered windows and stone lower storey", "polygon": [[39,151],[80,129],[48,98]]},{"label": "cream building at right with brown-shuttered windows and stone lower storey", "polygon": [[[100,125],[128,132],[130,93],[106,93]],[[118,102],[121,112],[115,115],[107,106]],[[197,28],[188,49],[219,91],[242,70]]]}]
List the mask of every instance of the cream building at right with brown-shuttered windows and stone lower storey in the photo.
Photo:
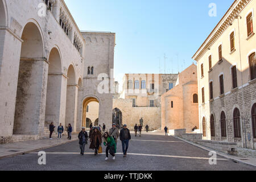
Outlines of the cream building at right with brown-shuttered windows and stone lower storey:
[{"label": "cream building at right with brown-shuttered windows and stone lower storey", "polygon": [[203,138],[256,148],[254,0],[236,0],[193,56]]}]

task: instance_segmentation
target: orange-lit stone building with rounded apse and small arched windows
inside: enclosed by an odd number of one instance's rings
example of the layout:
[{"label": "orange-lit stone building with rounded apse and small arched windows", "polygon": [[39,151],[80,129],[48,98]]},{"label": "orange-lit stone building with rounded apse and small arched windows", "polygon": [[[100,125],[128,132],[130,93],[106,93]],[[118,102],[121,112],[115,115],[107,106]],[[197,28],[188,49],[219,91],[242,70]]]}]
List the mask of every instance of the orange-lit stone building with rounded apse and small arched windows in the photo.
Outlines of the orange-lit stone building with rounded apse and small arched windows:
[{"label": "orange-lit stone building with rounded apse and small arched windows", "polygon": [[161,96],[162,130],[199,128],[197,68],[195,64],[179,73],[175,87]]}]

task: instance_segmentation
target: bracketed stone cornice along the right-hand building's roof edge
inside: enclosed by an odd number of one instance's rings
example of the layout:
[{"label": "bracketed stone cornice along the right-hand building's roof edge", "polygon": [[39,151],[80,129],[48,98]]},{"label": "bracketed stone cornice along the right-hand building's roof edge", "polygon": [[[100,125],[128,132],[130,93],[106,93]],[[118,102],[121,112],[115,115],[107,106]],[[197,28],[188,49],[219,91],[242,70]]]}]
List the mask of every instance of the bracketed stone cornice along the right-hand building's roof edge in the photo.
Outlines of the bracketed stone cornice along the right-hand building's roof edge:
[{"label": "bracketed stone cornice along the right-hand building's roof edge", "polygon": [[241,13],[243,8],[250,2],[251,0],[236,0],[233,5],[230,6],[229,10],[222,17],[217,26],[210,33],[208,38],[202,44],[202,46],[197,50],[195,55],[193,55],[192,59],[199,61],[201,57],[210,49],[210,47],[220,38],[222,33],[232,24],[234,19]]}]

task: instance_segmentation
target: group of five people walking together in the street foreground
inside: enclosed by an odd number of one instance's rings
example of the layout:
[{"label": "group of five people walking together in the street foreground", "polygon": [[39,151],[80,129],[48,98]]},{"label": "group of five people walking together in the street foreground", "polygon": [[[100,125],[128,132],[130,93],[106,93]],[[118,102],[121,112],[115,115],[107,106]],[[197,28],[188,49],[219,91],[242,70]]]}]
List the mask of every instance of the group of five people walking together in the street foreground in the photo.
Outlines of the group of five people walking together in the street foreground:
[{"label": "group of five people walking together in the street foreground", "polygon": [[[103,135],[101,133],[103,131]],[[94,155],[98,155],[99,150],[102,149],[102,142],[104,146],[106,146],[106,158],[109,159],[109,154],[113,156],[113,160],[115,160],[115,154],[117,153],[117,141],[118,138],[122,141],[122,149],[123,149],[123,157],[127,156],[127,150],[129,147],[129,140],[131,139],[130,130],[127,129],[127,125],[123,125],[121,131],[118,131],[117,125],[113,123],[112,128],[108,131],[106,130],[106,126],[103,127],[93,127],[90,125],[89,135],[85,131],[85,127],[82,127],[78,138],[80,144],[80,154],[84,155],[85,145],[88,144],[88,138],[90,139],[90,149],[94,150]]]}]

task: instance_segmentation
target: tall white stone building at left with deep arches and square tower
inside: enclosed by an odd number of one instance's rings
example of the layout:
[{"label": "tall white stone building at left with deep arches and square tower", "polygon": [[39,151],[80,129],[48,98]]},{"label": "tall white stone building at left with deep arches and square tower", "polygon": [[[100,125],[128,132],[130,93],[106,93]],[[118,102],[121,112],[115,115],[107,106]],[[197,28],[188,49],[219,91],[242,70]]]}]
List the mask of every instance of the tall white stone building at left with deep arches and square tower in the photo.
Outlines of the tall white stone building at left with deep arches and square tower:
[{"label": "tall white stone building at left with deep arches and square tower", "polygon": [[97,84],[112,81],[115,34],[80,32],[63,0],[0,0],[0,17],[0,143],[41,138],[49,122],[80,130],[93,99],[111,125],[113,96]]}]

